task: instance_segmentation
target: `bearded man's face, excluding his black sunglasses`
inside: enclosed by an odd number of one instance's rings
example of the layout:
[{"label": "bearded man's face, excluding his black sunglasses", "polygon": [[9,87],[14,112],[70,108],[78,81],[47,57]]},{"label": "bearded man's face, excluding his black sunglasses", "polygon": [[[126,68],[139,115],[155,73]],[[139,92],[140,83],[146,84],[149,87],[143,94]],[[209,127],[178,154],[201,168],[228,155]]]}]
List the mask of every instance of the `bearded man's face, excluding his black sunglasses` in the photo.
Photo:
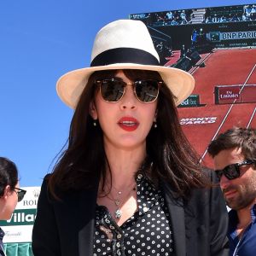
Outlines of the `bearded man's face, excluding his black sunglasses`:
[{"label": "bearded man's face, excluding his black sunglasses", "polygon": [[[225,166],[243,160],[241,148],[222,150],[213,158],[215,170],[222,170]],[[253,165],[240,166],[239,169],[240,177],[230,180],[223,175],[219,182],[227,205],[234,210],[249,207],[256,199],[256,170]]]}]

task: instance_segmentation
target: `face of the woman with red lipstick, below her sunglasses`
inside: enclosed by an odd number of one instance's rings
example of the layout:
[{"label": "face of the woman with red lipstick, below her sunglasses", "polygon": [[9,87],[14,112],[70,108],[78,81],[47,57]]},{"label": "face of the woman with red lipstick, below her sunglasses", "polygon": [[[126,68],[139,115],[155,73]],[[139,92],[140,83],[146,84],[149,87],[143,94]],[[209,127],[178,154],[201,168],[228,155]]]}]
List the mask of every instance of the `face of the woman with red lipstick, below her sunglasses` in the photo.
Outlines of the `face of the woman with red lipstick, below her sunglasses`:
[{"label": "face of the woman with red lipstick, below her sunglasses", "polygon": [[155,119],[157,101],[143,103],[133,92],[132,81],[122,71],[115,78],[122,79],[126,85],[125,95],[119,102],[105,102],[100,91],[95,102],[91,102],[90,114],[98,119],[104,134],[105,146],[111,144],[121,149],[145,147],[146,137]]}]

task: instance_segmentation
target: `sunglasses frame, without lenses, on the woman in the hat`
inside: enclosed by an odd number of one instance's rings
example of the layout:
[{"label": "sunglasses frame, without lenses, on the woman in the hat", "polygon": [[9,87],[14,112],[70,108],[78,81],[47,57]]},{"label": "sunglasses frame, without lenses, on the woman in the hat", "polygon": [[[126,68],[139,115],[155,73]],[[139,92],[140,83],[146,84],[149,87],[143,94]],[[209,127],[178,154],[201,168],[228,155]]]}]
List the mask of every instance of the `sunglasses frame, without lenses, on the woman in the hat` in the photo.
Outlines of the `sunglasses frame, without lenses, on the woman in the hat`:
[{"label": "sunglasses frame, without lenses, on the woman in the hat", "polygon": [[[103,81],[112,81],[112,82],[113,82],[113,81],[117,81],[117,82],[123,83],[123,84],[125,85],[125,87],[124,87],[124,92],[123,92],[122,96],[120,96],[119,100],[113,101],[113,102],[112,102],[112,101],[107,101],[107,100],[102,96],[102,83],[103,83]],[[150,101],[150,102],[143,102],[143,101],[140,100],[139,97],[137,96],[137,92],[136,92],[137,83],[138,83],[138,82],[144,82],[144,81],[154,81],[154,82],[156,82],[157,85],[158,85],[158,88],[157,88],[157,96],[155,96],[155,98],[154,98],[153,101]],[[127,85],[132,85],[132,86],[133,86],[133,93],[134,93],[134,95],[137,97],[137,100],[138,100],[139,102],[142,102],[142,103],[145,103],[145,104],[155,102],[155,101],[157,100],[158,96],[159,96],[160,85],[163,84],[163,83],[164,83],[163,81],[158,81],[158,80],[154,80],[154,79],[136,80],[136,81],[134,81],[134,82],[132,82],[132,83],[125,83],[123,80],[119,80],[119,79],[96,79],[96,80],[95,80],[95,84],[98,84],[98,85],[100,86],[100,93],[101,93],[102,99],[103,99],[105,102],[109,102],[109,103],[116,103],[116,102],[119,102],[119,101],[123,98],[123,96],[125,95],[126,86],[127,86]]]}]

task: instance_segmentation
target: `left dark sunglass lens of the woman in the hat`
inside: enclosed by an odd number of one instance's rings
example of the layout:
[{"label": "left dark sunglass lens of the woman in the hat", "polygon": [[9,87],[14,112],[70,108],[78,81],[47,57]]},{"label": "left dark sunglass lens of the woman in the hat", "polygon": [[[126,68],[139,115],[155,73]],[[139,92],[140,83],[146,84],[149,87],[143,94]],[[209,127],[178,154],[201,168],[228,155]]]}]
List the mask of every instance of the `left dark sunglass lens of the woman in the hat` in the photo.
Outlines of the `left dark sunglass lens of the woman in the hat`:
[{"label": "left dark sunglass lens of the woman in the hat", "polygon": [[118,102],[125,91],[125,84],[114,79],[104,79],[101,81],[102,98],[107,102]]}]

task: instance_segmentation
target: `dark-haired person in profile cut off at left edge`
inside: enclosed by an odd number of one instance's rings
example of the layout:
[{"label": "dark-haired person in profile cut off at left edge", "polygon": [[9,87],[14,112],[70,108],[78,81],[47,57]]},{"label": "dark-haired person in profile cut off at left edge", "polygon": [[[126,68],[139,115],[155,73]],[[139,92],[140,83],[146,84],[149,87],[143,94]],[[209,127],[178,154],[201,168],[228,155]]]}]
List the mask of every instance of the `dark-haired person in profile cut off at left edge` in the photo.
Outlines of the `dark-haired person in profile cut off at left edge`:
[{"label": "dark-haired person in profile cut off at left edge", "polygon": [[[0,219],[8,220],[18,201],[21,201],[26,194],[26,190],[20,189],[18,171],[11,160],[0,157]],[[3,252],[4,232],[0,228],[0,255]]]}]

